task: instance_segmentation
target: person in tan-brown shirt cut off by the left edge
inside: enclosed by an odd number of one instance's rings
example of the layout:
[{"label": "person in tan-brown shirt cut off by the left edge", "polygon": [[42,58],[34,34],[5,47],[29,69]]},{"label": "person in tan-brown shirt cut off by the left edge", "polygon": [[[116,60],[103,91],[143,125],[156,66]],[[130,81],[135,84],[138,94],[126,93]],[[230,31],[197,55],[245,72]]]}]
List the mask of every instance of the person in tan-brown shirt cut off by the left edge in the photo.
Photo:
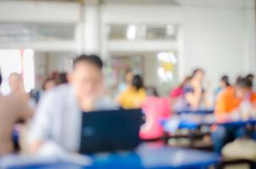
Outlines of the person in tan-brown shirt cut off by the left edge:
[{"label": "person in tan-brown shirt cut off by the left edge", "polygon": [[[1,83],[0,74],[0,87]],[[26,122],[32,114],[27,102],[19,95],[0,95],[0,155],[14,153],[14,126],[20,121]]]}]

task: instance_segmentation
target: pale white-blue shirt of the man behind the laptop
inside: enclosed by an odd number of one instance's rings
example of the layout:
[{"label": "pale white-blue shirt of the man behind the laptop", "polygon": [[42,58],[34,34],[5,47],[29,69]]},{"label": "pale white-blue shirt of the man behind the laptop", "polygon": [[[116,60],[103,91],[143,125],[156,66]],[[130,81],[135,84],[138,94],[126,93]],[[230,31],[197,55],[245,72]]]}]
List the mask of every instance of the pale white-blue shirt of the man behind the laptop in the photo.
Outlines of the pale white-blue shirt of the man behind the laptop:
[{"label": "pale white-blue shirt of the man behind the laptop", "polygon": [[[113,109],[116,104],[103,97],[96,110]],[[81,139],[81,109],[70,85],[60,85],[42,96],[31,123],[29,142],[51,141],[65,150],[77,151]]]}]

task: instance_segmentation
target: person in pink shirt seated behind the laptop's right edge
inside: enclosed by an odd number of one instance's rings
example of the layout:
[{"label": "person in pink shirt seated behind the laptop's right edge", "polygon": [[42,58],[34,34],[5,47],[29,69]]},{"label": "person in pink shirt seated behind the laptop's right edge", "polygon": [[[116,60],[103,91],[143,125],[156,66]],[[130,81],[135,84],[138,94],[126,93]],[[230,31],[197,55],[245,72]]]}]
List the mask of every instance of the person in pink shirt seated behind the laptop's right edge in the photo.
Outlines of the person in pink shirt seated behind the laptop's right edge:
[{"label": "person in pink shirt seated behind the laptop's right edge", "polygon": [[142,110],[146,115],[146,123],[142,125],[140,137],[142,139],[159,139],[164,136],[164,129],[159,123],[169,118],[170,100],[166,97],[159,97],[154,87],[147,88],[147,97],[142,103]]}]

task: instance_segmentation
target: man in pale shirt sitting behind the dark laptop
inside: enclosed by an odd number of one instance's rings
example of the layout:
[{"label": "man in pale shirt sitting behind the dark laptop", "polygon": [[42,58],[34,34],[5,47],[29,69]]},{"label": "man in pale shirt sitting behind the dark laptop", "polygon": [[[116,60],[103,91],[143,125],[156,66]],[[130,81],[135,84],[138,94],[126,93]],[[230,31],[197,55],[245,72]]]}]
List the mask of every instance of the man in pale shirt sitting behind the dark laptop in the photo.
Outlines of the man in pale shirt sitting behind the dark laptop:
[{"label": "man in pale shirt sitting behind the dark laptop", "polygon": [[102,69],[99,57],[81,55],[74,60],[68,78],[70,84],[59,85],[42,96],[29,132],[31,153],[41,153],[48,144],[77,152],[81,112],[116,108],[116,104],[104,96]]}]

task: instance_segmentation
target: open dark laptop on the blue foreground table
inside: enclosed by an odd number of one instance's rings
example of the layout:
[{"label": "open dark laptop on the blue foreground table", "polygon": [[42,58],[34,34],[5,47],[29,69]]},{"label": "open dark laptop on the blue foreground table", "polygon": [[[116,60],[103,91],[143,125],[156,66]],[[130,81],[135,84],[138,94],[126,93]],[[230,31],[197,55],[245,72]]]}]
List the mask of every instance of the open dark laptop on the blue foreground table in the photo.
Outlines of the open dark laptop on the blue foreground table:
[{"label": "open dark laptop on the blue foreground table", "polygon": [[83,112],[80,153],[133,150],[144,121],[141,109]]}]

